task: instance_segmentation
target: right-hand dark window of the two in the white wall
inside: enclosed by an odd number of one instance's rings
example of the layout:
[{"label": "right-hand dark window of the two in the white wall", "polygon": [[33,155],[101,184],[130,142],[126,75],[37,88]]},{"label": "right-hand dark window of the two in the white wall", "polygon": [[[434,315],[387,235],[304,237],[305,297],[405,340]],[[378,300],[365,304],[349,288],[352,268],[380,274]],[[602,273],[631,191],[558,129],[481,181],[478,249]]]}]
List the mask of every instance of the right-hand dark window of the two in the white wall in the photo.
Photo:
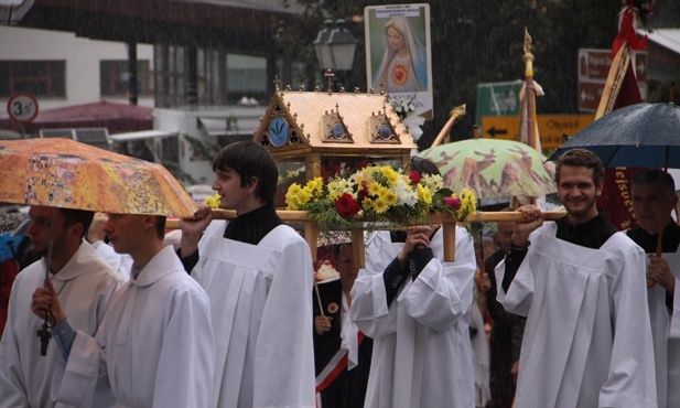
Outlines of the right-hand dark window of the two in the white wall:
[{"label": "right-hand dark window of the two in the white wall", "polygon": [[[129,62],[100,61],[99,82],[101,96],[127,96],[130,73]],[[153,96],[151,88],[151,72],[148,60],[137,61],[137,92],[139,96]]]}]

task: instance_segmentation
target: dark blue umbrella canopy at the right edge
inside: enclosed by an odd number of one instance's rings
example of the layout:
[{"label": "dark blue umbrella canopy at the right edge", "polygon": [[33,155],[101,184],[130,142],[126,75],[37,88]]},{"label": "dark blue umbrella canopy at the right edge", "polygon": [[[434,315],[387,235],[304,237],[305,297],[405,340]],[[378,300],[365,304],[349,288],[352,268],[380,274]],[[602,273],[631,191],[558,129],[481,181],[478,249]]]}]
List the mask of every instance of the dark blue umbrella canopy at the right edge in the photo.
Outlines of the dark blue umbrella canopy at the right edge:
[{"label": "dark blue umbrella canopy at the right edge", "polygon": [[569,138],[550,160],[583,148],[607,168],[680,168],[680,107],[637,104],[616,109]]}]

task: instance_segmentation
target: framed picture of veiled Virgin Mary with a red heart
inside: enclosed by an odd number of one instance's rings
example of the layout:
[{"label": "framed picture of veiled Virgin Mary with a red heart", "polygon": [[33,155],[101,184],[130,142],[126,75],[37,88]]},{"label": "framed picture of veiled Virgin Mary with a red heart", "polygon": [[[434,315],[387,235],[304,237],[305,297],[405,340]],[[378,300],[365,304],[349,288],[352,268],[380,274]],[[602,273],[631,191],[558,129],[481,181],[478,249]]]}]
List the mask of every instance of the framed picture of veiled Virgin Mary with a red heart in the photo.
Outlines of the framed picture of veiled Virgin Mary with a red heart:
[{"label": "framed picture of veiled Virgin Mary with a red heart", "polygon": [[368,87],[403,116],[432,119],[430,4],[370,6],[364,21]]}]

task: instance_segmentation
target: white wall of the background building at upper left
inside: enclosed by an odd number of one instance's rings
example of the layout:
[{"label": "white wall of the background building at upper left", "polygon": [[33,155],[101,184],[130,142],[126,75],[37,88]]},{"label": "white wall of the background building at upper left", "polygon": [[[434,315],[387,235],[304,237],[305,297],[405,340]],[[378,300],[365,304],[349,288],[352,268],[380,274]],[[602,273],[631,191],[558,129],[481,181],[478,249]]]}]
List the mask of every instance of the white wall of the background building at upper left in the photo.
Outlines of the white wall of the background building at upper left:
[{"label": "white wall of the background building at upper left", "polygon": [[[0,60],[66,61],[66,98],[39,98],[40,109],[87,104],[106,99],[128,103],[126,98],[101,98],[99,61],[127,60],[125,43],[90,41],[73,33],[0,25]],[[137,45],[137,58],[149,60],[153,69],[153,47]],[[7,98],[0,97],[0,117],[7,118]],[[153,106],[153,98],[139,98],[140,106]]]}]

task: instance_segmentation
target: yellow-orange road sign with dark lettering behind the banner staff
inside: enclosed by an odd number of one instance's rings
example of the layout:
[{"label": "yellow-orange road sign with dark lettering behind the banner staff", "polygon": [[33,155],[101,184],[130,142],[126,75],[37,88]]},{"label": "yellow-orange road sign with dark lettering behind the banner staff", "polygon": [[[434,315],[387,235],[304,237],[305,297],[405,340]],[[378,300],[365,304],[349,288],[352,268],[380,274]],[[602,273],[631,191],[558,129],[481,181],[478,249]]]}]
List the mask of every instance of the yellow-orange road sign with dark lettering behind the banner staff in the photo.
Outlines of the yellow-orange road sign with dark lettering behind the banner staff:
[{"label": "yellow-orange road sign with dark lettering behind the banner staff", "polygon": [[[538,131],[543,150],[557,149],[564,142],[562,135],[574,136],[590,125],[593,115],[541,115],[538,116]],[[482,118],[482,138],[519,140],[518,116],[486,116]]]}]

